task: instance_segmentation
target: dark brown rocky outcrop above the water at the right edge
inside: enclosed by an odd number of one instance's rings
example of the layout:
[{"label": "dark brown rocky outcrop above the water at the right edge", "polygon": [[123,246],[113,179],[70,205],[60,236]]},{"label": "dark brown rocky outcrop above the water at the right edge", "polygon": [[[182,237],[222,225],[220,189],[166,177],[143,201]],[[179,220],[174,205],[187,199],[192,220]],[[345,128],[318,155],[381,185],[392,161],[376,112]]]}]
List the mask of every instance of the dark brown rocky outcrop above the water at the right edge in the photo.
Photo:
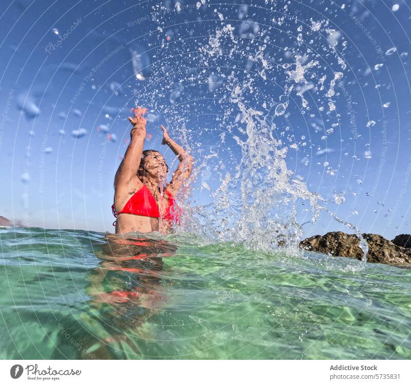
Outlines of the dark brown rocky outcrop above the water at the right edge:
[{"label": "dark brown rocky outcrop above the water at the right edge", "polygon": [[[367,262],[388,264],[411,264],[411,248],[388,241],[378,234],[362,234],[368,243]],[[357,235],[332,231],[325,235],[314,235],[300,242],[300,248],[328,255],[346,256],[361,260],[363,251]]]}]

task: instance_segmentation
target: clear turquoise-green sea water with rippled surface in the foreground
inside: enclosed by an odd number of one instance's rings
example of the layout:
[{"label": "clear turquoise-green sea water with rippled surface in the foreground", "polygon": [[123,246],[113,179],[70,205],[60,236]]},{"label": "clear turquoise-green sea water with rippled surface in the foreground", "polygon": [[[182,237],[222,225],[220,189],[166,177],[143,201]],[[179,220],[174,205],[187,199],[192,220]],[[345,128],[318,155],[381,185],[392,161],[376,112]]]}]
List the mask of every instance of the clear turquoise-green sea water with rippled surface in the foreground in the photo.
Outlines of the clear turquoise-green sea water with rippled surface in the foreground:
[{"label": "clear turquoise-green sea water with rippled surface in the foreground", "polygon": [[0,230],[3,359],[409,359],[411,270],[192,236]]}]

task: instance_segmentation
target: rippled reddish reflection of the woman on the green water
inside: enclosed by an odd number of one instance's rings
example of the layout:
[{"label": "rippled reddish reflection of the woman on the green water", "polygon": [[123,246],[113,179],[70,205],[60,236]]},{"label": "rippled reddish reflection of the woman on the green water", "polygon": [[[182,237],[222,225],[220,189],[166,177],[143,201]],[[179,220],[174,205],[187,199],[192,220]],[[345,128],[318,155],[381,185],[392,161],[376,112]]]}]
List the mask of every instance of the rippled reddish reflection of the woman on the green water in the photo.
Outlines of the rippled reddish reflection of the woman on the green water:
[{"label": "rippled reddish reflection of the woman on the green water", "polygon": [[82,358],[138,358],[138,343],[148,338],[145,326],[167,301],[162,259],[173,255],[177,247],[148,238],[114,234],[106,238],[96,254],[100,264],[91,271],[86,288],[92,311],[85,319],[92,328],[83,335],[81,345],[92,356],[83,354]]}]

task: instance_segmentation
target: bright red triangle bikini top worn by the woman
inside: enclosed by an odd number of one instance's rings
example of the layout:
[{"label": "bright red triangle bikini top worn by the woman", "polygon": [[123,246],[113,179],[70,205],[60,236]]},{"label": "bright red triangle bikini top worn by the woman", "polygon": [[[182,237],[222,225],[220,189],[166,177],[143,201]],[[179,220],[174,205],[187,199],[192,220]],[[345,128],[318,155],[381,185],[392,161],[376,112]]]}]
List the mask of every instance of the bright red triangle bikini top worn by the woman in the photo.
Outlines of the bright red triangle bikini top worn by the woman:
[{"label": "bright red triangle bikini top worn by the woman", "polygon": [[[175,204],[174,197],[168,190],[164,190],[169,196],[169,206],[165,210],[163,216],[166,221],[169,222],[179,222],[181,209]],[[113,215],[117,218],[117,214],[127,213],[142,216],[151,216],[153,218],[160,217],[160,211],[158,209],[157,201],[154,198],[150,190],[147,189],[145,185],[138,190],[125,204],[123,210],[116,213],[114,205],[111,206]],[[116,226],[116,221],[113,223]]]}]

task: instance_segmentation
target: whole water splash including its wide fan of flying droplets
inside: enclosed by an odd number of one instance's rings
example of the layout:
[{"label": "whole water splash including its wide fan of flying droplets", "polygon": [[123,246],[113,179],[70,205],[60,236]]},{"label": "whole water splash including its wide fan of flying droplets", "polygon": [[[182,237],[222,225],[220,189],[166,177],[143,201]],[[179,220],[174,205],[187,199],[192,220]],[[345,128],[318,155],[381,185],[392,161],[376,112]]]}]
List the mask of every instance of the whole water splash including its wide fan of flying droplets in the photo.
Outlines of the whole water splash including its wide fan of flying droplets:
[{"label": "whole water splash including its wide fan of flying droplets", "polygon": [[[298,33],[293,34],[296,40],[293,47],[287,47],[284,53],[273,52],[268,43],[269,30],[252,28],[248,33],[253,36],[246,34],[241,38],[241,25],[235,27],[224,24],[221,17],[219,19],[223,25],[210,31],[206,42],[198,43],[196,55],[190,52],[183,57],[176,74],[171,69],[175,67],[173,62],[164,60],[151,65],[153,78],[159,74],[154,83],[161,91],[157,92],[156,98],[150,85],[139,94],[139,103],[145,97],[153,111],[161,111],[157,114],[159,119],[166,117],[174,127],[178,127],[178,131],[170,130],[179,133],[184,147],[190,149],[194,156],[196,153],[199,155],[190,181],[177,197],[183,206],[179,231],[200,235],[204,242],[243,243],[263,250],[287,247],[296,251],[303,236],[303,229],[296,221],[296,205],[297,201],[304,200],[310,204],[312,222],[318,220],[321,212],[327,212],[353,230],[366,251],[360,231],[330,212],[326,208],[328,199],[310,192],[302,178],[294,176],[288,169],[286,162],[289,149],[298,149],[295,140],[291,142],[290,135],[285,135],[287,127],[284,127],[284,121],[293,113],[292,109],[288,111],[290,100],[295,100],[295,96],[297,100],[301,99],[298,106],[301,114],[313,114],[310,106],[313,96],[321,100],[320,111],[324,111],[323,105],[327,103],[329,112],[336,108],[333,100],[335,86],[342,81],[346,64],[341,50],[338,52],[335,47],[347,47],[344,37],[339,31],[327,29],[326,21],[313,22],[312,33],[320,30],[328,33],[323,50],[328,56],[334,56],[338,67],[331,68],[324,65],[319,54],[300,44],[304,37],[297,39]],[[251,20],[245,23],[251,27],[254,25]],[[273,23],[280,26],[285,20],[273,19]],[[175,60],[173,47],[161,46]],[[181,47],[179,49],[182,51]],[[267,90],[270,82],[278,84],[279,91],[270,94]],[[201,84],[206,86],[198,94],[204,96],[203,100],[192,94],[189,87]],[[213,94],[214,105],[205,97],[208,93]],[[186,128],[185,122],[193,112],[203,116],[213,112],[213,106],[221,111],[214,115],[220,134],[216,135],[217,131],[207,133],[203,127],[198,130]],[[337,117],[329,115],[329,119],[335,119],[329,123],[332,127],[338,125]],[[332,133],[331,130],[328,129],[327,135]],[[207,155],[201,144],[207,139],[213,140],[213,146],[234,153],[233,156],[239,153],[235,158],[236,165],[226,168],[222,160],[217,162],[219,157]],[[317,154],[332,151],[319,148]],[[335,170],[331,166],[329,169],[333,175]],[[209,175],[214,171],[219,178],[214,191],[209,181],[201,176],[205,171]],[[197,205],[189,189],[189,184],[200,177],[200,187],[213,199],[208,205]]]}]

